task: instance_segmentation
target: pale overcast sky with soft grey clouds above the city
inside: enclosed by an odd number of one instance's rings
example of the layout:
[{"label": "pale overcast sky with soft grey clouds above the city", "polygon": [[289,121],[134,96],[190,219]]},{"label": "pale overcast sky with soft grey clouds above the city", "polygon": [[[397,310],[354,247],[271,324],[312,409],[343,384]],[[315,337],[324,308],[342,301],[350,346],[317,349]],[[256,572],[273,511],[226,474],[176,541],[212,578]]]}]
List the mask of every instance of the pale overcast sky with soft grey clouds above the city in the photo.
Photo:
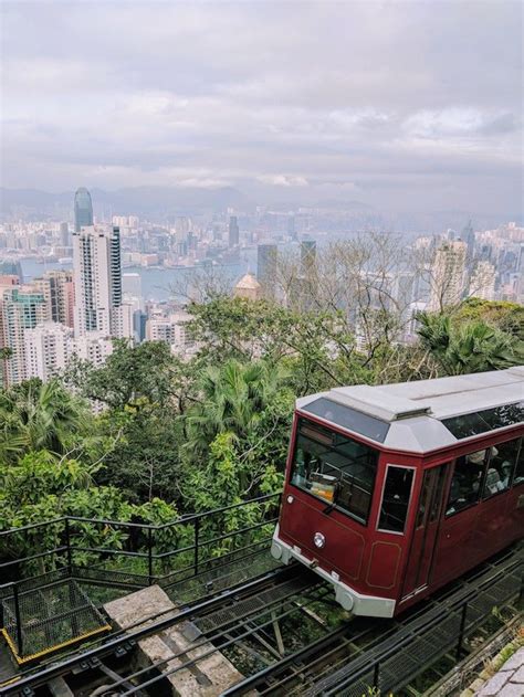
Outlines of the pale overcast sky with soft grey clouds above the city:
[{"label": "pale overcast sky with soft grey clouds above the city", "polygon": [[234,186],[522,210],[521,2],[17,0],[1,11],[6,187]]}]

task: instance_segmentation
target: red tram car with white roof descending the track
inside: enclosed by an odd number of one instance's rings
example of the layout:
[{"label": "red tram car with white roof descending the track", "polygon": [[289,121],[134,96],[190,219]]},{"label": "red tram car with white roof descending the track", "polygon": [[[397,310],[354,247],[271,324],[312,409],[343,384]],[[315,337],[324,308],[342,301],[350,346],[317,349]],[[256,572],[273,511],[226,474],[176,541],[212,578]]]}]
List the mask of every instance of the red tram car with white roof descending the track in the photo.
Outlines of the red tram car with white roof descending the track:
[{"label": "red tram car with white roof descending the track", "polygon": [[392,617],[524,535],[524,367],[298,399],[271,552]]}]

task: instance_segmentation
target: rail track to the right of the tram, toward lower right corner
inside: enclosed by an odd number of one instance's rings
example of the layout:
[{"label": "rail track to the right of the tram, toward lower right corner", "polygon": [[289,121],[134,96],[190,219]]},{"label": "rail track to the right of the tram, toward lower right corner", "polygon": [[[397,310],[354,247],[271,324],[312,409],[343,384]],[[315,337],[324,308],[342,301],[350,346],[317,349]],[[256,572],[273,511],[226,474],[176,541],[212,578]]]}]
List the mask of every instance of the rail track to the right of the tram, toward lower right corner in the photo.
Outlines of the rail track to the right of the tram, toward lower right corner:
[{"label": "rail track to the right of the tram, toward lower right corner", "polygon": [[389,621],[378,636],[374,636],[376,623],[366,627],[354,621],[350,632],[344,627],[332,632],[316,645],[228,689],[223,697],[252,689],[259,695],[360,697],[371,685],[380,694],[397,695],[455,646],[460,657],[463,644],[458,644],[457,637],[463,634],[465,640],[496,602],[505,604],[522,592],[523,566],[522,550],[503,555],[496,563],[484,564],[421,608]]}]

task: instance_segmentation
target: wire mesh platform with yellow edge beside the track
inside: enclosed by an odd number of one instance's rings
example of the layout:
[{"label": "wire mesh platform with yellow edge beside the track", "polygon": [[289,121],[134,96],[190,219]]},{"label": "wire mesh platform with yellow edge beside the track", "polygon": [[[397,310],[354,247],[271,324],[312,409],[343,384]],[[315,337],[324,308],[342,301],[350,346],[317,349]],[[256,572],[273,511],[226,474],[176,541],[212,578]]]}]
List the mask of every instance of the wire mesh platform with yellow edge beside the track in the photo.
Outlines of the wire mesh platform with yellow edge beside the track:
[{"label": "wire mesh platform with yellow edge beside the track", "polygon": [[19,663],[109,630],[74,580],[13,593],[2,600],[2,633]]}]

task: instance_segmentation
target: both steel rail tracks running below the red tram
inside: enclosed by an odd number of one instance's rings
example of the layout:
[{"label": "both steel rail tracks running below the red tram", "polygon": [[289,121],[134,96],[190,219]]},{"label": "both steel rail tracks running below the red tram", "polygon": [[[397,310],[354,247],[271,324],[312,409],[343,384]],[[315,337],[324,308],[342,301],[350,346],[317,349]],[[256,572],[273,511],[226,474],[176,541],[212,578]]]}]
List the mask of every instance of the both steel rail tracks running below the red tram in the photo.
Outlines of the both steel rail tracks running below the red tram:
[{"label": "both steel rail tracks running below the red tram", "polygon": [[[103,675],[105,687],[98,695],[140,697],[156,694],[166,677],[177,672],[198,669],[199,662],[217,651],[230,659],[242,655],[251,661],[251,673],[226,690],[224,697],[251,690],[275,696],[359,697],[374,683],[384,691],[394,687],[400,689],[428,662],[446,654],[450,645],[457,643],[464,603],[469,603],[470,609],[469,621],[462,626],[465,636],[491,612],[493,604],[504,604],[518,592],[522,567],[522,550],[509,551],[398,620],[353,617],[333,629],[324,626],[318,637],[296,651],[279,645],[282,644],[282,638],[280,642],[277,638],[279,627],[307,619],[321,629],[323,622],[316,609],[319,603],[332,602],[332,591],[303,567],[279,568],[185,608],[176,616],[156,617],[148,626],[143,625],[143,617],[139,627],[115,633],[98,645],[57,663],[24,672],[15,683],[0,689],[0,694],[29,697],[57,677],[76,674],[75,683],[85,685],[90,680],[99,685]],[[191,654],[195,655],[193,648],[198,647],[206,647],[205,653],[190,658],[184,651],[172,651],[161,661],[129,670],[125,656],[132,655],[138,641],[185,621],[197,629]],[[172,665],[175,661],[178,665]],[[88,694],[85,685],[82,694]]]}]

